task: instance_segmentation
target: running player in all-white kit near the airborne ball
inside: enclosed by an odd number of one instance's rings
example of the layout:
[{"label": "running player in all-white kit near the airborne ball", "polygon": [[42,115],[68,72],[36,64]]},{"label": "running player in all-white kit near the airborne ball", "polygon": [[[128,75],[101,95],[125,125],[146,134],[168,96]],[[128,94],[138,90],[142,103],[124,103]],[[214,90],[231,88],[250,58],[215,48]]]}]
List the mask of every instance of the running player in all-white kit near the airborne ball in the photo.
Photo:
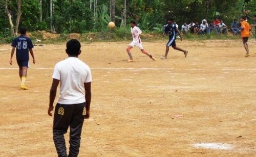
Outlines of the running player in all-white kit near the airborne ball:
[{"label": "running player in all-white kit near the airborne ball", "polygon": [[126,48],[126,52],[130,57],[130,60],[128,60],[127,62],[134,62],[133,56],[132,56],[132,53],[131,53],[131,49],[134,46],[137,46],[143,54],[146,54],[153,61],[156,61],[156,58],[153,57],[151,54],[147,53],[147,51],[143,48],[142,42],[141,42],[141,39],[140,39],[140,34],[142,33],[142,31],[136,26],[136,22],[134,20],[131,21],[131,33],[132,33],[132,36],[133,36],[133,41]]}]

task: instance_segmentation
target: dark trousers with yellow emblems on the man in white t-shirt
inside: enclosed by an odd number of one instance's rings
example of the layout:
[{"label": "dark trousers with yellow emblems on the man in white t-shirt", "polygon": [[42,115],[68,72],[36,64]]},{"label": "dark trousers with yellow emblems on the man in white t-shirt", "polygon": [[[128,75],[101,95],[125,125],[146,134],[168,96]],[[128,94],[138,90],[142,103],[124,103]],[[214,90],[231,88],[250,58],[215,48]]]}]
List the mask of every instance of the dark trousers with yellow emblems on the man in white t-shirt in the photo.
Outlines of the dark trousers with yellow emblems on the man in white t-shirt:
[{"label": "dark trousers with yellow emblems on the man in white t-shirt", "polygon": [[57,103],[53,118],[53,141],[59,157],[66,157],[67,148],[64,134],[70,126],[69,156],[79,153],[82,124],[85,115],[86,103],[59,104]]}]

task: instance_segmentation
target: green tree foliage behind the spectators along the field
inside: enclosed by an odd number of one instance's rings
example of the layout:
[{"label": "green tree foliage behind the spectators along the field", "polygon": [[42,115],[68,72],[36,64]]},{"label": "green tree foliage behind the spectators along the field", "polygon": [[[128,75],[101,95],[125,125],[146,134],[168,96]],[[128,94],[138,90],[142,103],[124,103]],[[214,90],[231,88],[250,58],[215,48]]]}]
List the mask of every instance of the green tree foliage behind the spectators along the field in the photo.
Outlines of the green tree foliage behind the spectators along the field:
[{"label": "green tree foliage behind the spectators along the field", "polygon": [[[13,18],[17,13],[17,0],[9,0],[9,10]],[[42,6],[40,21],[40,2]],[[22,17],[20,25],[29,31],[51,30],[50,0],[22,0]],[[113,0],[97,1],[96,11],[90,9],[88,0],[53,0],[53,25],[57,33],[83,33],[106,30],[110,21],[110,6]],[[94,4],[92,4],[94,6]],[[113,6],[113,4],[112,4]],[[172,16],[180,25],[190,20],[213,20],[218,17],[229,24],[234,18],[246,15],[250,20],[256,14],[256,0],[115,0],[115,23],[121,26],[124,17],[129,21],[135,19],[141,29],[158,30]],[[113,10],[112,10],[113,12]],[[94,17],[97,16],[97,18]],[[129,23],[129,22],[127,22]],[[0,35],[10,29],[5,12],[5,0],[0,0]]]}]

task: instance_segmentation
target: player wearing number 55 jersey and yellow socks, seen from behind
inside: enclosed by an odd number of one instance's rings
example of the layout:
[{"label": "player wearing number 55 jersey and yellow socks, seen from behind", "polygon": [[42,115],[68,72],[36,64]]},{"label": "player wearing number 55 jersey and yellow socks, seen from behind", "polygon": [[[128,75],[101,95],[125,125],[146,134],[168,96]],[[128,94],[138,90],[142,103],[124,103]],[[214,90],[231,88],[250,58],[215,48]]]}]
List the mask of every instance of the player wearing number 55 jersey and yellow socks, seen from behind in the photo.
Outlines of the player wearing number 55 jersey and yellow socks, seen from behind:
[{"label": "player wearing number 55 jersey and yellow socks, seen from behind", "polygon": [[12,41],[10,65],[12,65],[12,57],[16,48],[16,60],[19,66],[19,77],[20,81],[22,81],[20,84],[20,89],[27,90],[28,88],[25,86],[25,81],[29,67],[29,52],[33,58],[33,63],[35,64],[35,57],[32,49],[34,46],[31,39],[26,37],[27,29],[21,27],[19,31],[20,36]]}]

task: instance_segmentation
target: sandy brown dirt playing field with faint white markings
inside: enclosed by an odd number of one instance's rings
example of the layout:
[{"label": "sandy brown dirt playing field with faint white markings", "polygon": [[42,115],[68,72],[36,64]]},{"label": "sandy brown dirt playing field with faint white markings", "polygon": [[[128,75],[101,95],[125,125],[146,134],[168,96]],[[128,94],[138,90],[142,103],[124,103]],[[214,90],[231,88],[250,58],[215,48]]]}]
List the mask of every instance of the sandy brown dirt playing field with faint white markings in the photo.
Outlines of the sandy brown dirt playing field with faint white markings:
[{"label": "sandy brown dirt playing field with faint white markings", "polygon": [[[82,44],[93,97],[80,156],[256,156],[252,39],[249,58],[240,40],[178,41],[188,57],[172,49],[164,61],[166,41],[144,42],[158,60],[134,48],[134,63],[125,62],[128,43]],[[52,68],[67,58],[65,46],[34,48],[29,90],[21,91],[10,45],[0,45],[0,156],[57,156],[47,110]]]}]

